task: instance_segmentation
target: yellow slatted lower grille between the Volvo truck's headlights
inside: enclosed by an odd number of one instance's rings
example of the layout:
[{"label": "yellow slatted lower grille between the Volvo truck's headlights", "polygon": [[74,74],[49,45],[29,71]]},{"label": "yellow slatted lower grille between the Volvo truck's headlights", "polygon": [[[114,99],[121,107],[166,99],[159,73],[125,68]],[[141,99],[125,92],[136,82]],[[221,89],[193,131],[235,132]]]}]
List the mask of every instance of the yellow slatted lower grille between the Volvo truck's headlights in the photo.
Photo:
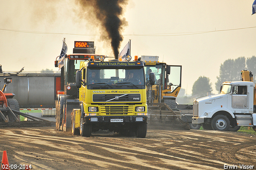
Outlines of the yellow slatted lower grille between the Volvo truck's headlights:
[{"label": "yellow slatted lower grille between the Volvo truck's headlights", "polygon": [[100,111],[106,115],[127,115],[133,113],[133,106],[100,106]]}]

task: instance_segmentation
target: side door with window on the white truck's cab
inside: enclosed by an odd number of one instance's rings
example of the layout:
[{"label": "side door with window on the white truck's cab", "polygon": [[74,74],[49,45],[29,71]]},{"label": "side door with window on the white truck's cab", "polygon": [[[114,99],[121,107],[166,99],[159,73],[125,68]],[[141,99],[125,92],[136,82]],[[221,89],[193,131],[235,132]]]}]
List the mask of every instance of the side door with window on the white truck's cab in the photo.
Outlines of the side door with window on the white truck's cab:
[{"label": "side door with window on the white truck's cab", "polygon": [[232,88],[232,108],[248,108],[248,88],[247,86],[233,86]]}]

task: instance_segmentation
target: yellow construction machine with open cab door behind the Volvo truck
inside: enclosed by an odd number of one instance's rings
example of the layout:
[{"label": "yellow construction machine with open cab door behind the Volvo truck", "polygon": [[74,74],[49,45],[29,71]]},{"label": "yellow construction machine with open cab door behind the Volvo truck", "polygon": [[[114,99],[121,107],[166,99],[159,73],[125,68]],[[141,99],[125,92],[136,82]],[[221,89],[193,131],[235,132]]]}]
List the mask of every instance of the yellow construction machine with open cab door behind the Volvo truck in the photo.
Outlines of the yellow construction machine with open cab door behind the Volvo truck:
[{"label": "yellow construction machine with open cab door behind the Volvo truck", "polygon": [[[141,56],[139,59],[144,62],[146,74],[149,122],[152,124],[164,122],[183,129],[193,128],[190,120],[193,106],[176,102],[181,88],[182,66],[167,65],[159,62],[158,58],[158,56]],[[154,73],[154,80],[150,81],[151,73]],[[200,128],[200,125],[195,126]]]}]

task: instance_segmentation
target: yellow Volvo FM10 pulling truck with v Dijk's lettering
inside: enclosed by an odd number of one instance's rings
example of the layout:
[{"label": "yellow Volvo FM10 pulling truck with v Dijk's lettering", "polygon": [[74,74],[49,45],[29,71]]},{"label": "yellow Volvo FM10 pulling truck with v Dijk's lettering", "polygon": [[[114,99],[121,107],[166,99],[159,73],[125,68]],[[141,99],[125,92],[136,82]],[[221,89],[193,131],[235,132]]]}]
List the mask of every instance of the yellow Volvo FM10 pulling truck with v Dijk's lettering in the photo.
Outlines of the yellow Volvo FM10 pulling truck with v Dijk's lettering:
[{"label": "yellow Volvo FM10 pulling truck with v Dijk's lettering", "polygon": [[104,56],[99,60],[80,62],[76,72],[80,108],[72,112],[72,134],[90,136],[101,129],[145,138],[148,113],[143,62],[104,62]]}]

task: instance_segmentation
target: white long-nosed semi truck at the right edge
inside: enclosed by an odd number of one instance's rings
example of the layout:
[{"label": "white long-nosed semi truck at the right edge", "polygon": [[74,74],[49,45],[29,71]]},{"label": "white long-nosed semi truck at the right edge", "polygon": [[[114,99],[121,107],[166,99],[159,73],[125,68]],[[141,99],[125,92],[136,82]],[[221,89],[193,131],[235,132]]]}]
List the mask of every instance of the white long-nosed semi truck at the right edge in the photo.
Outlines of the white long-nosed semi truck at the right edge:
[{"label": "white long-nosed semi truck at the right edge", "polygon": [[192,123],[206,130],[237,131],[250,126],[256,131],[254,84],[247,70],[241,75],[242,81],[222,83],[220,94],[196,99]]}]

